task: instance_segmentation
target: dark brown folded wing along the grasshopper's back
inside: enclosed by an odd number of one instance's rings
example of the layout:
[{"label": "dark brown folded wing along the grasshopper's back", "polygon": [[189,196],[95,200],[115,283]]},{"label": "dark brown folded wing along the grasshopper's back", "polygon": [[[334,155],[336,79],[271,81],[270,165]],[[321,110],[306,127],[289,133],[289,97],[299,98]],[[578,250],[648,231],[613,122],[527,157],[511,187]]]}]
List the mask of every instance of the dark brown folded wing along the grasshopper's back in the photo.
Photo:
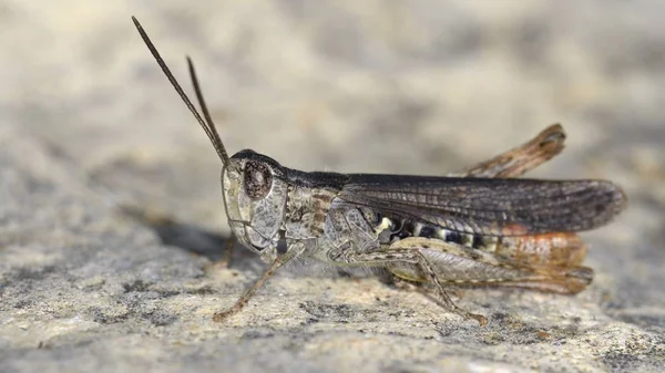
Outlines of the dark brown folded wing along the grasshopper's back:
[{"label": "dark brown folded wing along the grasshopper's back", "polygon": [[348,176],[337,196],[348,204],[484,236],[589,230],[626,205],[621,188],[604,180]]}]

